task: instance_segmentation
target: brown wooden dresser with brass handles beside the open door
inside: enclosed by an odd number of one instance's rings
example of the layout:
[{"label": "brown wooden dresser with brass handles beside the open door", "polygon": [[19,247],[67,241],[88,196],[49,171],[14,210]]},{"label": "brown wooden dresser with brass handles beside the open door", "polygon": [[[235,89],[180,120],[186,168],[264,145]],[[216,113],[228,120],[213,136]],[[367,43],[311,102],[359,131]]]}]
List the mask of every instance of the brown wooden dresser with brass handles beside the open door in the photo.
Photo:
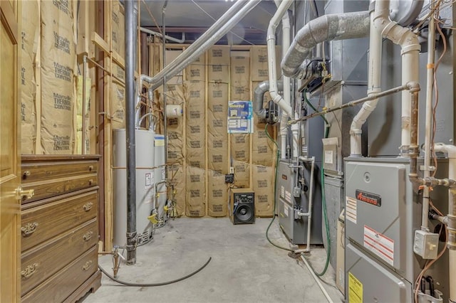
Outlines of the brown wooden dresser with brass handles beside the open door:
[{"label": "brown wooden dresser with brass handles beside the open door", "polygon": [[75,302],[100,287],[99,156],[22,156],[21,301]]}]

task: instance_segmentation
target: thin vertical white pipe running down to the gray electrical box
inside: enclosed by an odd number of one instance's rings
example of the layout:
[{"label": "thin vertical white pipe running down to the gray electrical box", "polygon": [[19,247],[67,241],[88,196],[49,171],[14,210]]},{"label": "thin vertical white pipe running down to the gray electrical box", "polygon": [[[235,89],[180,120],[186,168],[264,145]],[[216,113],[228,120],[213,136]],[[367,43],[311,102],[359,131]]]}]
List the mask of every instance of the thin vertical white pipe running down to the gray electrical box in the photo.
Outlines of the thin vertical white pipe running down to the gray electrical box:
[{"label": "thin vertical white pipe running down to the gray electrical box", "polygon": [[[434,1],[430,1],[430,10],[434,8]],[[432,92],[434,87],[434,61],[435,61],[435,22],[434,15],[430,17],[429,33],[427,36],[427,73],[426,73],[426,117],[425,117],[425,169],[423,178],[430,176],[430,141],[432,128]],[[429,186],[423,188],[423,212],[421,213],[421,229],[429,230]]]}]

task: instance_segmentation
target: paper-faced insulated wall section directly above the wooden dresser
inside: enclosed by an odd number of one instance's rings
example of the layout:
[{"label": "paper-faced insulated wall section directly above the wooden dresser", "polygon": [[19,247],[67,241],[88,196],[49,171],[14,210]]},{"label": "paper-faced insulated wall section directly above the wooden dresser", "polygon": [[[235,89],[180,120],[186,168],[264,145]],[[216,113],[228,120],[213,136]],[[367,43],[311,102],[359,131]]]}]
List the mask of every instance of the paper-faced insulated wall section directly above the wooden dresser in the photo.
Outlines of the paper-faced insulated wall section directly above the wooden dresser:
[{"label": "paper-faced insulated wall section directly above the wooden dresser", "polygon": [[[21,7],[21,153],[81,154],[83,79],[78,55],[89,53],[95,1],[78,6],[74,0],[30,0]],[[95,154],[93,68],[86,78],[84,152]]]}]

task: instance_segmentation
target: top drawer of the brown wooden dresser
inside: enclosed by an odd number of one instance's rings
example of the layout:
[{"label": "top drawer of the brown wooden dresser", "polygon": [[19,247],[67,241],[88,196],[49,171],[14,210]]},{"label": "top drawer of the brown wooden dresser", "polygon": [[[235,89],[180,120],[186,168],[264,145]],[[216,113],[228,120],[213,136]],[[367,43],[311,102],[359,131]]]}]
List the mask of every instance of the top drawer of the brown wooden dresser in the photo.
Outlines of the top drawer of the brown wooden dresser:
[{"label": "top drawer of the brown wooden dresser", "polygon": [[34,196],[23,197],[22,203],[77,191],[98,184],[98,162],[38,161],[22,164],[22,188],[33,189]]}]

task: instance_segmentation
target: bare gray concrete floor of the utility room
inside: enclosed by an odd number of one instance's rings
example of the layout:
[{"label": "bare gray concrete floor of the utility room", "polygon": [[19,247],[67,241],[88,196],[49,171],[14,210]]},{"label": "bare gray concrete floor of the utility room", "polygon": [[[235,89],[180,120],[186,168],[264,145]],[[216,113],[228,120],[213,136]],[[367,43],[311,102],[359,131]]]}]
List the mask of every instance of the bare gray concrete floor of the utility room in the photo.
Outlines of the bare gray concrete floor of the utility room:
[{"label": "bare gray concrete floor of the utility room", "polygon": [[[270,245],[265,237],[270,218],[254,225],[232,225],[228,218],[179,218],[156,230],[151,243],[137,250],[137,263],[122,265],[118,279],[154,283],[174,280],[212,261],[196,275],[172,285],[125,287],[103,275],[102,286],[84,302],[327,302],[302,261]],[[288,247],[279,225],[270,238]],[[323,268],[325,251],[313,250],[309,260]],[[100,257],[112,274],[112,257]],[[343,296],[334,285],[330,268],[324,284],[333,302]]]}]

